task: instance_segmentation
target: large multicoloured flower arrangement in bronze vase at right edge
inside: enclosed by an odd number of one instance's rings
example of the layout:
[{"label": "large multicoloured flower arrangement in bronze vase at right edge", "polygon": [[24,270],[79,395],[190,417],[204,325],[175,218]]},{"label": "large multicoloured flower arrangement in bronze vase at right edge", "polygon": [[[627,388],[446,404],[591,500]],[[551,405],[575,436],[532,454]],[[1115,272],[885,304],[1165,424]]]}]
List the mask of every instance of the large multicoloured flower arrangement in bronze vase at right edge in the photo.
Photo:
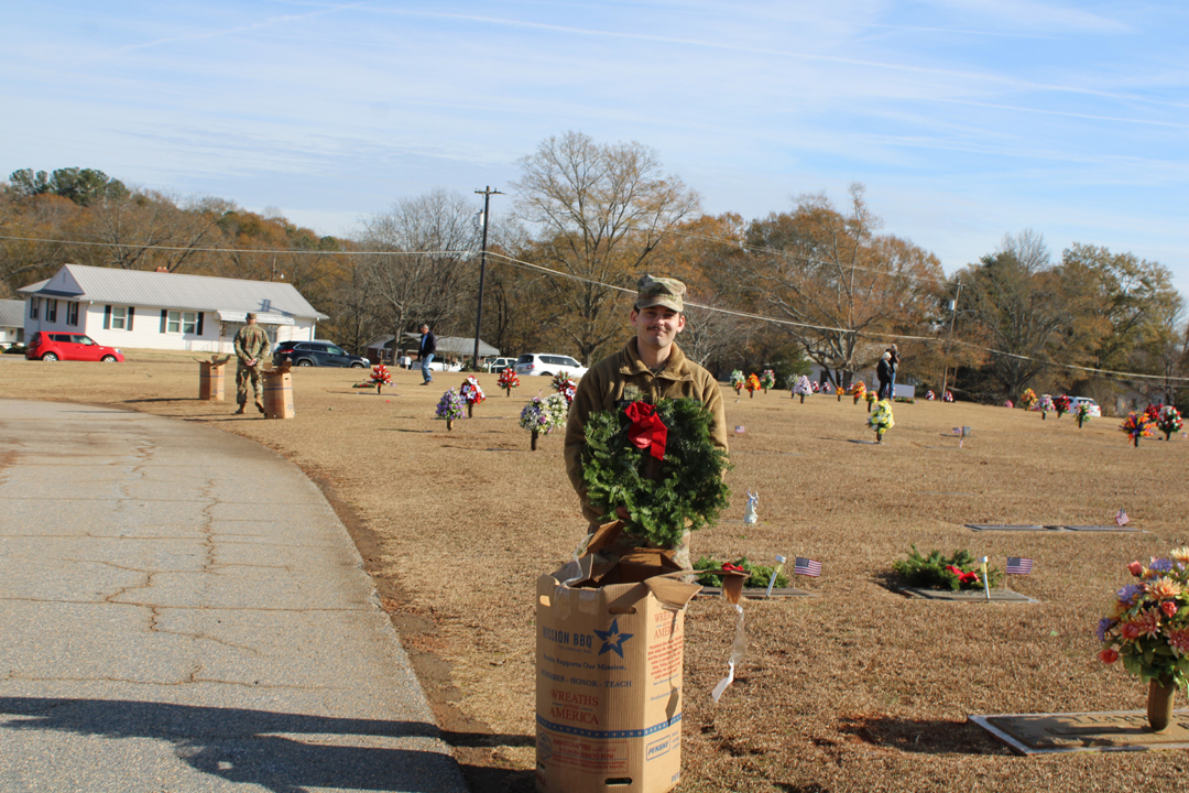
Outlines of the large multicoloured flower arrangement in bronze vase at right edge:
[{"label": "large multicoloured flower arrangement in bronze vase at right edge", "polygon": [[[1174,548],[1168,559],[1153,556],[1147,565],[1133,561],[1127,569],[1139,580],[1119,590],[1111,615],[1099,621],[1099,660],[1121,660],[1149,684],[1149,719],[1158,731],[1168,726],[1177,687],[1189,686],[1189,548]],[[1163,724],[1153,718],[1159,716],[1153,705],[1164,709]]]}]

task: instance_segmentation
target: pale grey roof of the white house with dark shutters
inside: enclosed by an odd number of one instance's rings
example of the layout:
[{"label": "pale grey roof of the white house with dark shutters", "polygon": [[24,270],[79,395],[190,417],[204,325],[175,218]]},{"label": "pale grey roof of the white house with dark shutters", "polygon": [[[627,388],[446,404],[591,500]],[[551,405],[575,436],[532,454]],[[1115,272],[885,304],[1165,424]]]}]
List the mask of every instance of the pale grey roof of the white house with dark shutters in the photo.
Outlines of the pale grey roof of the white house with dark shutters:
[{"label": "pale grey roof of the white house with dark shutters", "polygon": [[49,281],[18,290],[21,295],[149,306],[199,311],[256,311],[327,319],[292,284],[243,278],[214,278],[178,272],[146,272],[65,264]]}]

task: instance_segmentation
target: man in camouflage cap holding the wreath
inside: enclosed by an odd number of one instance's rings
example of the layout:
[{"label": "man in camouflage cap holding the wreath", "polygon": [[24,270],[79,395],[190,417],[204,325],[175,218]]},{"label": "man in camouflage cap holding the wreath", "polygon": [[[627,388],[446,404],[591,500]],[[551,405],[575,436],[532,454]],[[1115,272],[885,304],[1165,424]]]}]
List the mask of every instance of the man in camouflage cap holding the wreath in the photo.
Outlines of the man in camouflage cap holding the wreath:
[{"label": "man in camouflage cap holding the wreath", "polygon": [[[718,382],[710,372],[688,360],[674,342],[677,335],[685,329],[684,296],[685,284],[680,281],[641,277],[636,303],[629,314],[635,335],[623,350],[594,364],[578,380],[578,390],[566,422],[566,474],[581,499],[583,516],[590,522],[590,531],[594,531],[609,517],[590,503],[586,484],[583,482],[586,420],[592,413],[612,410],[623,402],[656,404],[660,399],[679,397],[698,399],[712,417],[711,441],[726,451],[726,417]],[[674,555],[674,561],[686,569],[692,568],[688,537],[690,533],[686,531]]]}]

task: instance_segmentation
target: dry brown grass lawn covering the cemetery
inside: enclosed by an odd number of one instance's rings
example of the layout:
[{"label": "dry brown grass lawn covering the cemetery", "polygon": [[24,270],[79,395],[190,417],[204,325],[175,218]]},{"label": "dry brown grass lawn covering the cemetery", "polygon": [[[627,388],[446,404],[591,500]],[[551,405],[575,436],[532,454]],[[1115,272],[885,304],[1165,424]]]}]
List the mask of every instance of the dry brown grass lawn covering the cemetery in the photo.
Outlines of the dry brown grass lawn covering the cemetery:
[{"label": "dry brown grass lawn covering the cemetery", "polygon": [[[533,766],[533,591],[584,535],[560,436],[529,452],[516,416],[546,382],[489,399],[447,433],[433,408],[461,375],[432,386],[394,372],[391,392],[357,391],[358,371],[301,370],[297,417],[232,416],[199,402],[195,364],[137,353],[117,366],[0,357],[4,395],[120,404],[252,438],[333,484],[385,608],[402,630],[447,737],[477,791],[529,791]],[[818,598],[748,603],[750,648],[716,707],[732,613],[696,600],[686,644],[682,791],[1166,792],[1183,751],[1023,759],[965,723],[970,713],[1137,710],[1144,692],[1095,659],[1093,628],[1122,565],[1189,545],[1189,443],[1128,446],[1119,420],[968,404],[897,405],[882,446],[847,398],[787,392],[737,401],[726,417],[736,492],[728,520],[694,554],[812,556]],[[943,438],[969,424],[965,448]],[[742,492],[760,493],[744,527]],[[963,523],[1108,523],[1126,506],[1146,534],[975,534]],[[913,602],[888,589],[908,545],[968,548],[1002,567],[1037,561],[1012,586],[1040,603]]]}]

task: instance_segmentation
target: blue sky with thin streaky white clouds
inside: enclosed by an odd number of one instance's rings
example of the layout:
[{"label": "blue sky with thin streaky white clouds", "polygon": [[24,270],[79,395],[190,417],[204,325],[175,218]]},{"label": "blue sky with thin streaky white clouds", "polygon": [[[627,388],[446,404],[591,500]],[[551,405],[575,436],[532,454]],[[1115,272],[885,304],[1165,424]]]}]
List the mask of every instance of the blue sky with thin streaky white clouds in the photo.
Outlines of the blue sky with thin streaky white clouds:
[{"label": "blue sky with thin streaky white clouds", "polygon": [[1189,4],[830,5],[8,2],[0,176],[97,168],[351,234],[438,187],[509,191],[580,131],[655,149],[712,214],[862,182],[946,271],[1032,228],[1189,297]]}]

